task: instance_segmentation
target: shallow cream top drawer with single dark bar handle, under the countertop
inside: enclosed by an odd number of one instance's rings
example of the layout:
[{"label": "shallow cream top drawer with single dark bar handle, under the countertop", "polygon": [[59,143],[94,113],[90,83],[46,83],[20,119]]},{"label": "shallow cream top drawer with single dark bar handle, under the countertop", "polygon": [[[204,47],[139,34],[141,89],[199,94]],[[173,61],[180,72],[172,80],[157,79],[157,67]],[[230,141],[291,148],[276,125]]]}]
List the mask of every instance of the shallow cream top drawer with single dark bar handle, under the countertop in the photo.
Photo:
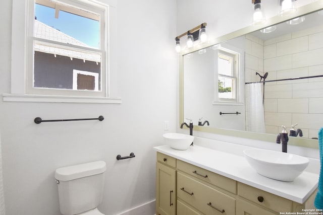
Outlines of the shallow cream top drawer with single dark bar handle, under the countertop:
[{"label": "shallow cream top drawer with single dark bar handle, under the countertop", "polygon": [[205,182],[218,186],[222,189],[225,189],[231,193],[237,194],[237,182],[230,178],[224,177],[217,173],[202,169],[200,167],[188,164],[186,162],[177,161],[177,169],[197,177]]}]

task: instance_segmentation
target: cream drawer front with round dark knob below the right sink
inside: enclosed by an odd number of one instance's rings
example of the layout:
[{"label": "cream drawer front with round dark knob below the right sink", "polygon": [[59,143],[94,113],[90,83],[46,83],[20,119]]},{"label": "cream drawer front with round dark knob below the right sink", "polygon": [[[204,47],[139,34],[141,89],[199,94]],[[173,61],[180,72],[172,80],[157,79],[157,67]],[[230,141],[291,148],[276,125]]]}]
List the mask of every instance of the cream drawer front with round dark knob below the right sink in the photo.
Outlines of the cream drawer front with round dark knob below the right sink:
[{"label": "cream drawer front with round dark knob below the right sink", "polygon": [[291,200],[259,190],[246,184],[238,183],[238,195],[276,212],[292,211]]}]

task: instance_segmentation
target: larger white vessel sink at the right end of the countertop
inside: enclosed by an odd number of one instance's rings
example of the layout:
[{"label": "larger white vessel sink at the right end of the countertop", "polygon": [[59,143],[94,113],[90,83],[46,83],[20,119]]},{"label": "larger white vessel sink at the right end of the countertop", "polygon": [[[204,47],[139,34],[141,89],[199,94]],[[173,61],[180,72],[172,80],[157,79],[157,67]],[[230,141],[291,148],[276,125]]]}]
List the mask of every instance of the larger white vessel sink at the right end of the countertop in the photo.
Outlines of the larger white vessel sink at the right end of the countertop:
[{"label": "larger white vessel sink at the right end of the countertop", "polygon": [[280,181],[294,181],[309,163],[305,157],[270,150],[246,149],[243,153],[258,174]]}]

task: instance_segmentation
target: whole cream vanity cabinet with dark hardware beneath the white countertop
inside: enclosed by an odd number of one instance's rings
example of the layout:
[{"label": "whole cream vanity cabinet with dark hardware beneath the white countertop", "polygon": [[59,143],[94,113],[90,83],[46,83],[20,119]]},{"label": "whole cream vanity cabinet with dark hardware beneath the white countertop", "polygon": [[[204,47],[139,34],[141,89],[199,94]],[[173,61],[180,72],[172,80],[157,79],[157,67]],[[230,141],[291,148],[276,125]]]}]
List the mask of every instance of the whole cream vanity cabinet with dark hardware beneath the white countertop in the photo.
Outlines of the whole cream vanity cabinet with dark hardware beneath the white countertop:
[{"label": "whole cream vanity cabinet with dark hardware beneath the white countertop", "polygon": [[156,214],[276,215],[315,208],[237,182],[157,152]]}]

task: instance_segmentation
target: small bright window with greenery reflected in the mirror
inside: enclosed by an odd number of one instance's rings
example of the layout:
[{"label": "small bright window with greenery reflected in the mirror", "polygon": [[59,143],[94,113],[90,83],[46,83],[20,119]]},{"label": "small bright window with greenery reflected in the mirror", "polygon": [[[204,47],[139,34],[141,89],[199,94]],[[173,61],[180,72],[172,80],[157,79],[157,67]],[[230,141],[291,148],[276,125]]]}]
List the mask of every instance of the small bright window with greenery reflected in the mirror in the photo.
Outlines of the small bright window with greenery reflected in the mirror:
[{"label": "small bright window with greenery reflected in the mirror", "polygon": [[[228,45],[227,45],[228,46]],[[239,103],[240,98],[240,52],[234,47],[218,48],[216,59],[216,102]]]}]

